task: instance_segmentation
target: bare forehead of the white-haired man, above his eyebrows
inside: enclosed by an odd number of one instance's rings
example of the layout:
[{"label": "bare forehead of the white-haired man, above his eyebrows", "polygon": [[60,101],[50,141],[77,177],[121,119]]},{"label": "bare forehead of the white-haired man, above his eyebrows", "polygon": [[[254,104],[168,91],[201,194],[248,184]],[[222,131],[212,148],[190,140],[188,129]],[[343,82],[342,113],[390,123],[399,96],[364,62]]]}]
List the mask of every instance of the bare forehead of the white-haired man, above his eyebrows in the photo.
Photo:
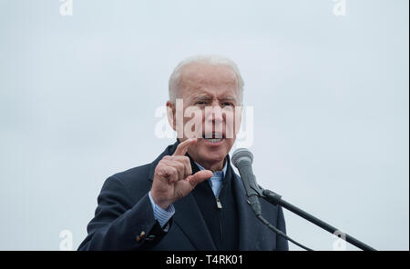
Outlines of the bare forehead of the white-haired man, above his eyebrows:
[{"label": "bare forehead of the white-haired man, above his eyebrows", "polygon": [[[185,97],[193,95],[238,96],[238,82],[235,73],[226,65],[192,63],[181,68],[180,93]],[[189,95],[189,96],[187,96]]]}]

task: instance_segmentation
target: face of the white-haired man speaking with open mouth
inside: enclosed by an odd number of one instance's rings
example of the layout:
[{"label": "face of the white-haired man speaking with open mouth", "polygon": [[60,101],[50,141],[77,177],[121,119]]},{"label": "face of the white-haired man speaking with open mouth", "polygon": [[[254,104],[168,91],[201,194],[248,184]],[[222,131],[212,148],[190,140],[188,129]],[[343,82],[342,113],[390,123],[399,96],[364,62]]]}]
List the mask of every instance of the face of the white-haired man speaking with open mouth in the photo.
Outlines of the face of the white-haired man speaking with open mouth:
[{"label": "face of the white-haired man speaking with open mouth", "polygon": [[[181,70],[177,96],[183,100],[186,115],[183,120],[184,137],[179,138],[180,141],[192,136],[199,137],[197,144],[192,145],[188,153],[196,162],[205,165],[205,168],[220,170],[241,124],[241,114],[237,113],[239,118],[235,125],[235,107],[241,105],[236,75],[223,65],[186,65]],[[167,105],[170,106],[169,103]],[[188,108],[190,113],[187,115]],[[175,125],[175,109],[173,105],[174,130],[178,128]],[[193,116],[192,111],[200,112],[197,114],[200,116]],[[187,132],[189,122],[190,130]]]}]

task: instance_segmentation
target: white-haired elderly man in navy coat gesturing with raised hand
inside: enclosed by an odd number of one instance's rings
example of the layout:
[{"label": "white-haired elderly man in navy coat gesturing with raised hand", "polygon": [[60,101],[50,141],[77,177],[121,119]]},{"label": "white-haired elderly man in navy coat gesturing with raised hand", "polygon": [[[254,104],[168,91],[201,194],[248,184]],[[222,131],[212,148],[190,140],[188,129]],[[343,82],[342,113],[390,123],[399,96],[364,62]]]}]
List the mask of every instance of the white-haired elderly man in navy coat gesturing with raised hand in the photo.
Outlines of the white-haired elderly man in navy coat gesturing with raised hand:
[{"label": "white-haired elderly man in navy coat gesturing with raised hand", "polygon": [[[107,179],[78,250],[288,250],[255,217],[231,167],[242,91],[229,59],[181,62],[169,78],[167,102],[179,139],[151,164]],[[282,208],[260,202],[263,216],[285,232]]]}]

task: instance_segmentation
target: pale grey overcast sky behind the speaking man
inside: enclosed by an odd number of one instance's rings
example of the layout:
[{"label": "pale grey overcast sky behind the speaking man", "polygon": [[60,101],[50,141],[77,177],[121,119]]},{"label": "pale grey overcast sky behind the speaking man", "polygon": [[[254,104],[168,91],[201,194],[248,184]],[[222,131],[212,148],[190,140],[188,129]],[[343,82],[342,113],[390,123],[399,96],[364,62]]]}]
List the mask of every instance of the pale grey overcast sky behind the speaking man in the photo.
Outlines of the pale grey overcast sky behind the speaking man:
[{"label": "pale grey overcast sky behind the speaking man", "polygon": [[[332,0],[60,5],[0,0],[1,250],[58,250],[65,229],[77,248],[105,179],[173,143],[155,111],[196,54],[241,69],[259,184],[377,249],[409,249],[408,1],[346,0],[345,15]],[[285,217],[292,238],[333,249]]]}]

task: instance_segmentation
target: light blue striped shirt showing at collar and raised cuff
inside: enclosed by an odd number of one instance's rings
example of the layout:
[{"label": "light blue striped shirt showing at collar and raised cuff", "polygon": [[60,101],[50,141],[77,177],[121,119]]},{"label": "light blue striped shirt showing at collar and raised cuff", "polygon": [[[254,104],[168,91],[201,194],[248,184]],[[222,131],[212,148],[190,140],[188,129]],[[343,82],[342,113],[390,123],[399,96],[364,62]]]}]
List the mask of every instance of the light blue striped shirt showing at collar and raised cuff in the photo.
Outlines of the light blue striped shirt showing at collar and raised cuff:
[{"label": "light blue striped shirt showing at collar and raised cuff", "polygon": [[[210,183],[210,187],[212,188],[212,192],[215,195],[215,197],[220,196],[220,188],[222,186],[223,177],[226,174],[227,163],[228,162],[225,162],[225,165],[223,166],[222,171],[215,171],[213,173],[212,177],[208,180],[208,182]],[[198,168],[200,168],[200,170],[205,170],[205,168],[203,168],[200,164],[198,164],[196,162],[195,162],[195,164],[198,165]],[[173,214],[175,214],[174,205],[169,204],[168,208],[166,208],[166,209],[161,208],[158,204],[155,204],[154,199],[152,199],[150,191],[149,191],[149,201],[151,202],[152,210],[154,211],[154,218],[159,222],[159,224],[164,229],[164,231],[168,232],[169,219],[172,217]]]}]

